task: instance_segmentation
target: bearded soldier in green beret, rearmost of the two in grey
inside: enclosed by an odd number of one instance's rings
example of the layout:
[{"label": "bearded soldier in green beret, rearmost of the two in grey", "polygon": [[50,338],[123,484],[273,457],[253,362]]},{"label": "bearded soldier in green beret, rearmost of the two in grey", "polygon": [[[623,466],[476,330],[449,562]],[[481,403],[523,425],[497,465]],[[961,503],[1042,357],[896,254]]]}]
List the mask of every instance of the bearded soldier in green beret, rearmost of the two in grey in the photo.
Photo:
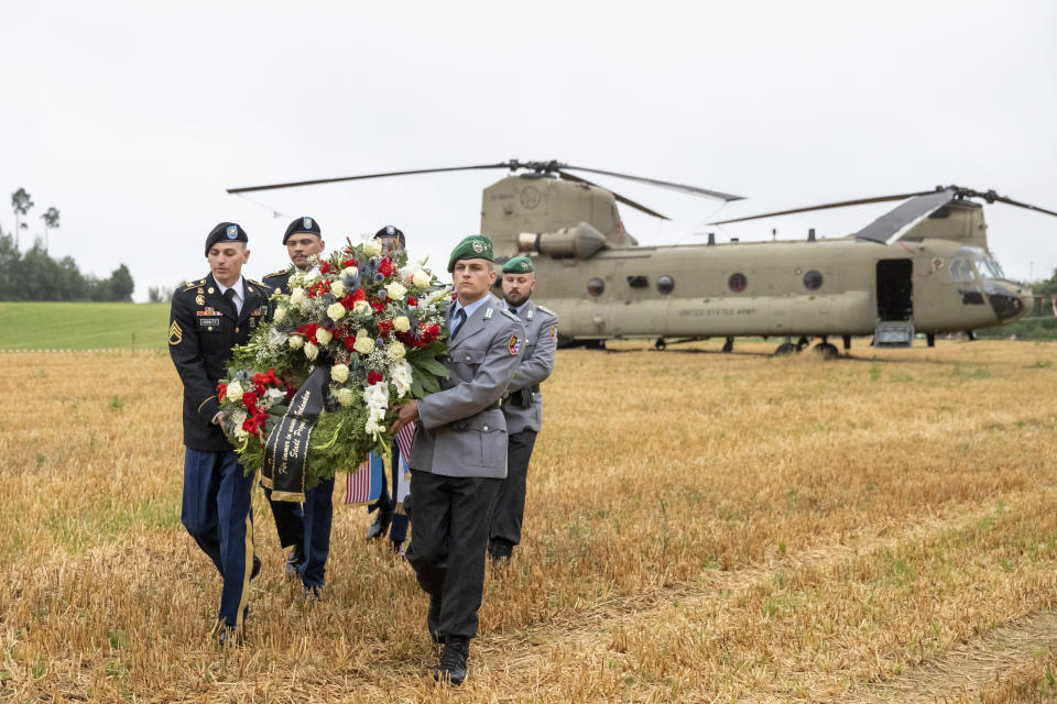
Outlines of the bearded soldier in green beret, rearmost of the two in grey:
[{"label": "bearded soldier in green beret, rearmost of the two in grey", "polygon": [[540,383],[551,376],[558,348],[558,316],[530,300],[536,287],[535,271],[527,256],[515,256],[503,265],[503,301],[525,323],[525,352],[503,398],[506,479],[500,486],[488,534],[488,557],[493,565],[509,562],[514,546],[521,542],[528,460],[543,422]]}]

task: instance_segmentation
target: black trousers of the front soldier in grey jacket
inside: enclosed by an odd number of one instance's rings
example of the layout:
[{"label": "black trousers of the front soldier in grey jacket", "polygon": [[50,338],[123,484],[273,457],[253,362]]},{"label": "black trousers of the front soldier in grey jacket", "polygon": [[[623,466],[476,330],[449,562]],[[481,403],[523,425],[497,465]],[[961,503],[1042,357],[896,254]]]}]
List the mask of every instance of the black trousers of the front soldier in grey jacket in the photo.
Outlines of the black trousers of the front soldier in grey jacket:
[{"label": "black trousers of the front soldier in grey jacket", "polygon": [[418,585],[440,601],[442,636],[472,638],[484,592],[488,524],[502,480],[411,471],[411,547]]}]

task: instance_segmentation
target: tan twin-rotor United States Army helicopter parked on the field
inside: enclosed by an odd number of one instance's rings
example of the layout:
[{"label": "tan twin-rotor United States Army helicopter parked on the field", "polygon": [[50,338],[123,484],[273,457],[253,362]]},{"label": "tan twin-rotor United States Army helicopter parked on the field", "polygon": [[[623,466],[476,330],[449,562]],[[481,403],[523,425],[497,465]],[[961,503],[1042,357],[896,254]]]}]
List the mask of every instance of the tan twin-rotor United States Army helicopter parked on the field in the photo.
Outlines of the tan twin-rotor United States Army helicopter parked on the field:
[{"label": "tan twin-rotor United States Army helicopter parked on the field", "polygon": [[970,199],[1057,216],[994,191],[949,186],[737,219],[906,201],[841,239],[717,244],[710,235],[707,244],[641,246],[624,230],[617,202],[664,216],[570,170],[727,201],[740,197],[558,162],[517,161],[228,193],[483,168],[511,174],[484,189],[481,233],[492,241],[497,263],[516,254],[534,257],[536,298],[560,317],[563,344],[645,338],[663,348],[722,337],[729,352],[735,337],[777,337],[784,341],[775,352],[787,354],[820,338],[816,350],[826,356],[837,355],[828,339],[838,337],[846,350],[853,336],[909,346],[915,333],[924,332],[931,344],[937,333],[1003,324],[1028,308],[1031,292],[1003,276],[988,251],[982,207]]}]

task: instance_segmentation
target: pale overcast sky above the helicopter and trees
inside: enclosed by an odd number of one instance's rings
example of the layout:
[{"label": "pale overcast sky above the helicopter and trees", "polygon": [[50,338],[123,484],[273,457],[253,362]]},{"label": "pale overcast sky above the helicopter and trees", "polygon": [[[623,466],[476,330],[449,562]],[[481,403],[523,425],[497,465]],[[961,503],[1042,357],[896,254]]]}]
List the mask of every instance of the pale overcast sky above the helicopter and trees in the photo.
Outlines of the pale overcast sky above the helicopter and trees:
[{"label": "pale overcast sky above the helicopter and trees", "polygon": [[[24,187],[51,252],[137,299],[205,274],[221,220],[248,273],[310,215],[337,244],[395,223],[446,262],[502,172],[251,197],[225,188],[549,160],[744,195],[724,217],[958,184],[1057,209],[1057,2],[25,2],[0,41],[0,227]],[[643,243],[695,239],[718,201],[597,177]],[[274,218],[272,211],[282,213]],[[727,226],[839,237],[870,206]],[[1013,277],[1057,267],[1057,218],[987,209]],[[23,246],[25,242],[23,241]],[[443,266],[440,266],[443,270]]]}]

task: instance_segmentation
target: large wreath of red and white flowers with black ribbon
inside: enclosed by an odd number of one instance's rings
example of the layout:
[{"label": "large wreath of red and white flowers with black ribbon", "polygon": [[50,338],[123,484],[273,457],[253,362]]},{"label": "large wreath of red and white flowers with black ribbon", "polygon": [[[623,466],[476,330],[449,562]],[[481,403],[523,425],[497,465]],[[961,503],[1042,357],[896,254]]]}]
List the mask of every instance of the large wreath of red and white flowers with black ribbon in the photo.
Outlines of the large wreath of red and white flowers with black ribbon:
[{"label": "large wreath of red and white flowers with black ribbon", "polygon": [[271,320],[235,349],[217,387],[224,430],[273,497],[355,472],[392,442],[394,404],[439,391],[448,372],[448,288],[404,252],[351,242],[290,277]]}]

